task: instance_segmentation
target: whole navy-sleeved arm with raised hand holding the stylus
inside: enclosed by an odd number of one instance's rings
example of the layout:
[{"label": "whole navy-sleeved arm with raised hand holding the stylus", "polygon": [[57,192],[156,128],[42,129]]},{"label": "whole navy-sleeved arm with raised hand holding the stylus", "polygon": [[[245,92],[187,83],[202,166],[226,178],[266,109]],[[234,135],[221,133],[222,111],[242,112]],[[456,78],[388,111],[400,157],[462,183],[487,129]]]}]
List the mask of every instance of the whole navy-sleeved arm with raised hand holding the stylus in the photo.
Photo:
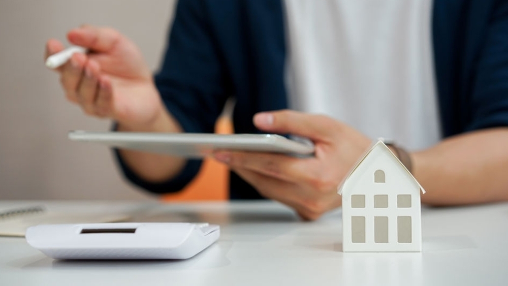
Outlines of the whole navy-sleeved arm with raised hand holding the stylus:
[{"label": "whole navy-sleeved arm with raised hand holding the stylus", "polygon": [[[111,118],[118,131],[212,132],[231,92],[211,39],[206,7],[180,1],[163,67],[152,78],[136,45],[111,28],[83,26],[69,32],[74,45],[92,53],[74,54],[58,69],[69,101],[90,116]],[[47,43],[49,56],[63,49]],[[130,150],[115,150],[125,176],[155,193],[181,189],[201,162]]]}]

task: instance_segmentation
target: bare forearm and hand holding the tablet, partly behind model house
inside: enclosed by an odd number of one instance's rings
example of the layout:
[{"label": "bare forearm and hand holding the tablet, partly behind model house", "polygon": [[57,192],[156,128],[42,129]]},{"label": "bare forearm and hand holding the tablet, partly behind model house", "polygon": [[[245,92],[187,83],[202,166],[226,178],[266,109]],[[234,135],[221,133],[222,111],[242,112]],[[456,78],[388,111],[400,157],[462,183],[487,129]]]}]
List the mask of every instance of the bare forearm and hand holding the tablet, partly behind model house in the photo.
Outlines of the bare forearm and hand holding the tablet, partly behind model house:
[{"label": "bare forearm and hand holding the tablet, partly behind model house", "polygon": [[[368,149],[369,138],[329,117],[289,110],[257,114],[254,122],[261,130],[310,138],[315,157],[218,152],[217,160],[260,194],[291,206],[305,219],[317,219],[341,205],[337,186]],[[508,200],[507,143],[508,129],[490,128],[411,154],[414,174],[427,190],[423,202],[457,205]]]}]

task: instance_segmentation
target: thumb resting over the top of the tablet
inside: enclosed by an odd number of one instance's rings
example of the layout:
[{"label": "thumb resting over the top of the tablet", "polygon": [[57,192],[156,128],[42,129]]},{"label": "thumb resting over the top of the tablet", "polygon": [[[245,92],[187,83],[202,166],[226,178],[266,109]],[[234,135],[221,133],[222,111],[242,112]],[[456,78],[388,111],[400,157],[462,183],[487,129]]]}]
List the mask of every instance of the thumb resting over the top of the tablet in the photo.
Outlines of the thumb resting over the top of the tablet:
[{"label": "thumb resting over the top of the tablet", "polygon": [[327,116],[281,110],[257,113],[253,122],[257,128],[279,134],[294,134],[310,139],[326,139],[340,124]]}]

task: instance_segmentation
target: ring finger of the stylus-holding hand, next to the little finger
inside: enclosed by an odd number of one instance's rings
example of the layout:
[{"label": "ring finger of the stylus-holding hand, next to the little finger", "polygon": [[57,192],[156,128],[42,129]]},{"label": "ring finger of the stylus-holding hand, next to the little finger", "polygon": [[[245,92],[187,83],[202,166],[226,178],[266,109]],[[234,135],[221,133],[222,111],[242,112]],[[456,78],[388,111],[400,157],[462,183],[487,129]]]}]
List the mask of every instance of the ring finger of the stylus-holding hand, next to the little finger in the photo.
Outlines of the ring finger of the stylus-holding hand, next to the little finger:
[{"label": "ring finger of the stylus-holding hand, next to the little finger", "polygon": [[79,84],[77,92],[79,103],[88,115],[95,114],[94,103],[97,98],[99,73],[99,64],[92,59],[88,59],[84,67],[84,76]]}]

